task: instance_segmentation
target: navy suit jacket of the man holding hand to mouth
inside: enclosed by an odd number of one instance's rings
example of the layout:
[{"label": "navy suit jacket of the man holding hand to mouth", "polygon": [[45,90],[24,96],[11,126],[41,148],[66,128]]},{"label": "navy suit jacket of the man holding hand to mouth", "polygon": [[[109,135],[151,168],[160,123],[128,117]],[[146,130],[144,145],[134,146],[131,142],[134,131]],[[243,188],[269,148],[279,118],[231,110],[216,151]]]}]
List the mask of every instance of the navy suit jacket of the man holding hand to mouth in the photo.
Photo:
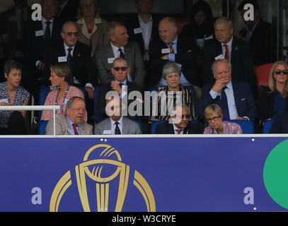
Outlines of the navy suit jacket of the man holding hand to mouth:
[{"label": "navy suit jacket of the man holding hand to mouth", "polygon": [[[204,110],[208,105],[216,102],[209,94],[214,83],[203,85],[202,97],[199,103],[198,115],[204,118]],[[239,117],[248,117],[250,120],[255,120],[257,117],[257,107],[254,102],[253,94],[250,86],[247,83],[232,81],[234,100]]]}]

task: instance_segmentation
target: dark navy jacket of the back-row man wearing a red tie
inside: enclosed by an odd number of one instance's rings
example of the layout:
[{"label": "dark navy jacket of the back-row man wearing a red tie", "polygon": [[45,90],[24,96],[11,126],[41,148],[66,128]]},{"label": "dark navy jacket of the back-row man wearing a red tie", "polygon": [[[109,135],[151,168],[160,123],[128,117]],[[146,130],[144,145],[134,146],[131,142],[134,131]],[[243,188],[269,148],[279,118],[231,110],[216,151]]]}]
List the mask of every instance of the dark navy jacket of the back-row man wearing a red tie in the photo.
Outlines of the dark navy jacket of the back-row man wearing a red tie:
[{"label": "dark navy jacket of the back-row man wearing a red tie", "polygon": [[[214,80],[212,73],[212,64],[215,57],[223,54],[221,43],[216,39],[205,42],[203,49],[203,67],[202,67],[202,81],[209,83]],[[249,82],[253,79],[253,61],[250,56],[249,45],[247,42],[233,37],[232,51],[231,51],[231,66],[233,80]]]}]

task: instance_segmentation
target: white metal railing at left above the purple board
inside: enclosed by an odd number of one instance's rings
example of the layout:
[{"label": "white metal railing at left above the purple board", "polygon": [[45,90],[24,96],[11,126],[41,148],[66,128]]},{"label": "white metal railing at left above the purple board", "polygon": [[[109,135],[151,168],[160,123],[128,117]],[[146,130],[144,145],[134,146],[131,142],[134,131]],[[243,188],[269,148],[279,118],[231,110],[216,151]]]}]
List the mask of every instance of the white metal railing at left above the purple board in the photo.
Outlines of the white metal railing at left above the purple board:
[{"label": "white metal railing at left above the purple board", "polygon": [[43,106],[43,105],[34,105],[34,106],[0,106],[0,111],[53,111],[53,127],[54,127],[54,136],[56,135],[55,131],[55,112],[60,109],[59,105],[52,106]]}]

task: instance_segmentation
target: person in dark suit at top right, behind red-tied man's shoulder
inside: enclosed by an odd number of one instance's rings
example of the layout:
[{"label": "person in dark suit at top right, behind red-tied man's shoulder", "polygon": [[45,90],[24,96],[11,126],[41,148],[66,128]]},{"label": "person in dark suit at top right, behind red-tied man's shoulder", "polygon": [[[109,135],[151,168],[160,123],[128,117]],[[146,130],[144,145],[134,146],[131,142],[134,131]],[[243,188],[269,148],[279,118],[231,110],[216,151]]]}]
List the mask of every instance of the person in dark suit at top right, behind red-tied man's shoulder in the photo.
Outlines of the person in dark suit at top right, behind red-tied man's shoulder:
[{"label": "person in dark suit at top right, behind red-tied man's shoulder", "polygon": [[[246,4],[254,7],[254,20],[245,20],[244,15],[248,9]],[[272,40],[272,25],[265,22],[260,16],[260,7],[256,0],[244,0],[238,6],[238,11],[243,18],[246,28],[239,33],[239,37],[249,43],[250,52],[255,66],[272,63],[275,61],[275,42]]]}]

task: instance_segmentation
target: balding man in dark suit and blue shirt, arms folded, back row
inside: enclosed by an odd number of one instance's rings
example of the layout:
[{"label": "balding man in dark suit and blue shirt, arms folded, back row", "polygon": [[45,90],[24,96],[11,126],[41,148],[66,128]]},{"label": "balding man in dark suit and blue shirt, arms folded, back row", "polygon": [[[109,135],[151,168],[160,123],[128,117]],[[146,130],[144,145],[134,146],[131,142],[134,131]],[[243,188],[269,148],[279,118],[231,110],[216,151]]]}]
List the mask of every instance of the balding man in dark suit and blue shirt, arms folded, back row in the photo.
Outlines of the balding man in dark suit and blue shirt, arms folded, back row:
[{"label": "balding man in dark suit and blue shirt, arms folded, back row", "polygon": [[163,66],[168,61],[181,66],[180,83],[200,85],[195,64],[198,57],[195,40],[186,40],[178,35],[178,23],[167,17],[159,22],[159,36],[161,40],[152,42],[150,50],[151,77],[149,85],[166,85],[162,78]]}]

